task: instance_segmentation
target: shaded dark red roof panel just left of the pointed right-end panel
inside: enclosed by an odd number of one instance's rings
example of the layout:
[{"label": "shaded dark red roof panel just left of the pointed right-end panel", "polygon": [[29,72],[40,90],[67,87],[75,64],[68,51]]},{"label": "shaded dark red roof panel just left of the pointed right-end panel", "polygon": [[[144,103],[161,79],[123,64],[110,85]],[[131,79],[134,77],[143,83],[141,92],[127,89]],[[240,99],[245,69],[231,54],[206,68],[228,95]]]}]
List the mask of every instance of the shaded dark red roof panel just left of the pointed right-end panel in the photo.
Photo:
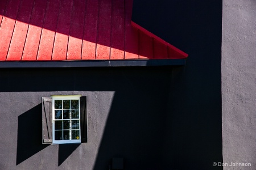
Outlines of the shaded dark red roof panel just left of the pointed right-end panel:
[{"label": "shaded dark red roof panel just left of the pointed right-end panel", "polygon": [[167,59],[168,58],[168,49],[167,45],[159,42],[156,39],[153,39],[154,43],[154,58],[159,58],[159,59]]}]

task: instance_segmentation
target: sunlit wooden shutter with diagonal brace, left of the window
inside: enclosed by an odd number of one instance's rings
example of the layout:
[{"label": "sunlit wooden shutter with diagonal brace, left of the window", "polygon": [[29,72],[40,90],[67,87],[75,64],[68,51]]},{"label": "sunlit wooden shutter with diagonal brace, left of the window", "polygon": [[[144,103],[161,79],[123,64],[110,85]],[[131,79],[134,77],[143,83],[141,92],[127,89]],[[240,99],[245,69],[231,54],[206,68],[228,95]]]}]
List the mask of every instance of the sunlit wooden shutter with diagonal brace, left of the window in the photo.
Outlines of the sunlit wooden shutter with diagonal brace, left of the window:
[{"label": "sunlit wooden shutter with diagonal brace, left of the window", "polygon": [[43,144],[52,144],[52,98],[42,97]]}]

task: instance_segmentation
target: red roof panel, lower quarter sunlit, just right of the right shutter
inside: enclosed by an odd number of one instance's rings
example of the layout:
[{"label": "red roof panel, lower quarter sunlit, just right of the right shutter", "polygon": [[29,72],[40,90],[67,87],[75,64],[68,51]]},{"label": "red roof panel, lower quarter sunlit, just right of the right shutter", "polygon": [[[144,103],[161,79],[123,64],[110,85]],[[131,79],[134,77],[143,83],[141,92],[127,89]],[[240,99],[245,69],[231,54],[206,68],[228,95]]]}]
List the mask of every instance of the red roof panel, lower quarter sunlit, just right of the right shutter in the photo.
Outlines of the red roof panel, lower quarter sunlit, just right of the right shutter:
[{"label": "red roof panel, lower quarter sunlit, just right of the right shutter", "polygon": [[111,0],[99,0],[96,59],[110,59]]}]

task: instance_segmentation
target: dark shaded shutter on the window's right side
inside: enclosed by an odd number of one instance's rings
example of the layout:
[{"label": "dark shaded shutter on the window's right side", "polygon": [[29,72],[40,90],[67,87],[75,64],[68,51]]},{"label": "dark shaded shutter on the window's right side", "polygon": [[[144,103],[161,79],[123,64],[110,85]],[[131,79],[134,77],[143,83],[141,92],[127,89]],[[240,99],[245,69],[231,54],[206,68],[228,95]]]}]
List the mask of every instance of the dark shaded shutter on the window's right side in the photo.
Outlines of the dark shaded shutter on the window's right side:
[{"label": "dark shaded shutter on the window's right side", "polygon": [[81,143],[87,142],[87,113],[86,113],[86,96],[80,97],[80,129]]}]

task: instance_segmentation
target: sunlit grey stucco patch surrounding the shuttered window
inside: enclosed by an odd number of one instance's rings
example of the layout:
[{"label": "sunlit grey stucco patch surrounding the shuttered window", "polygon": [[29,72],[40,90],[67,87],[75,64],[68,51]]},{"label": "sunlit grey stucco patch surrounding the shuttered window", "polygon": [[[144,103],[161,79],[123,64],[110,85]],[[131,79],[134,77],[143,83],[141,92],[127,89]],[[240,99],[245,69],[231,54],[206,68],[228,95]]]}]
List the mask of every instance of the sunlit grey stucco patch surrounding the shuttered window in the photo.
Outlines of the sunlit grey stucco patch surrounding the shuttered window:
[{"label": "sunlit grey stucco patch surrounding the shuttered window", "polygon": [[[88,142],[71,148],[68,145],[41,145],[39,135],[33,134],[34,125],[29,117],[39,114],[41,105],[40,96],[52,94],[74,95],[81,94],[88,97]],[[98,147],[104,132],[104,125],[109,113],[114,92],[5,92],[1,93],[1,161],[0,169],[93,169]],[[103,101],[103,102],[102,102]],[[32,110],[39,112],[33,112]],[[32,112],[30,112],[32,111]],[[34,115],[34,117],[39,117]],[[25,118],[23,118],[25,117]],[[27,118],[27,121],[25,120]],[[34,118],[40,125],[40,121]],[[24,122],[25,121],[25,122]],[[27,126],[26,126],[27,125]],[[26,127],[24,127],[26,126]],[[36,127],[35,127],[36,126]],[[5,130],[3,130],[5,129]],[[18,129],[18,134],[17,134]],[[27,130],[26,130],[27,129]],[[31,129],[29,131],[29,129]],[[31,134],[32,132],[32,134]],[[28,137],[24,139],[22,136]],[[30,138],[30,139],[29,139]],[[37,138],[35,140],[35,138]],[[24,142],[25,143],[24,143]],[[39,142],[39,143],[35,143]],[[41,146],[40,146],[41,145]],[[38,146],[38,147],[37,147]],[[44,148],[43,150],[40,150]],[[62,147],[62,148],[61,148]],[[61,151],[63,150],[63,151]],[[71,150],[71,151],[65,151]],[[38,153],[36,153],[38,151]],[[73,152],[72,152],[73,151]],[[67,153],[69,152],[69,153]],[[71,154],[67,159],[60,159],[61,154]],[[78,159],[79,158],[79,159]],[[71,165],[72,167],[69,167]]]}]

